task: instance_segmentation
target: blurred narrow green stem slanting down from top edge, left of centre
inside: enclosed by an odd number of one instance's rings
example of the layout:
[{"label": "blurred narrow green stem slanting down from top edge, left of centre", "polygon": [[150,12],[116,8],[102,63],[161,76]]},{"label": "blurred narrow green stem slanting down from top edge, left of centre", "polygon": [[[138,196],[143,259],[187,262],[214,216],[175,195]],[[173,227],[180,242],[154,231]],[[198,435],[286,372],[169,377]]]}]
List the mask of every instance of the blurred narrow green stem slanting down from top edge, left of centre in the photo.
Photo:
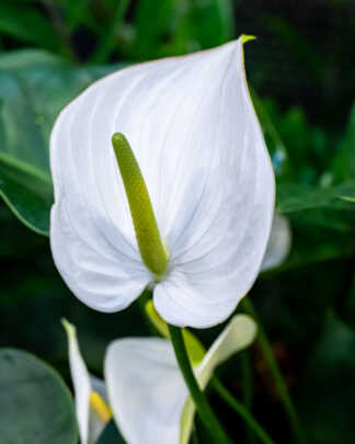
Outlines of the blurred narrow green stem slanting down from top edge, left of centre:
[{"label": "blurred narrow green stem slanting down from top edge, left of centre", "polygon": [[112,55],[116,45],[116,31],[122,23],[126,11],[129,7],[129,0],[117,0],[117,7],[107,29],[102,34],[98,48],[91,56],[90,61],[93,64],[102,64]]}]

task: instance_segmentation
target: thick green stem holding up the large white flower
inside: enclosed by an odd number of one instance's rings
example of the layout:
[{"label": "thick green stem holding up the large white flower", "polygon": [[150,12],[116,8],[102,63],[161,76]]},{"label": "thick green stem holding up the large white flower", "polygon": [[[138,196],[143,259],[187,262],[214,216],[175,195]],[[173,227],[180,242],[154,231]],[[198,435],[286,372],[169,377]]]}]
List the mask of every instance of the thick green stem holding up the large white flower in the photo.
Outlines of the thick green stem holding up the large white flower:
[{"label": "thick green stem holding up the large white flower", "polygon": [[197,413],[199,414],[202,423],[204,424],[210,437],[213,439],[211,442],[214,444],[231,444],[232,442],[227,436],[220,422],[216,418],[213,409],[210,408],[205,394],[197,384],[197,380],[195,378],[194,372],[192,369],[187,356],[187,351],[183,339],[182,330],[178,327],[169,325],[169,332],[181,373],[183,374],[186,386],[188,387],[190,395],[196,406],[196,410]]}]

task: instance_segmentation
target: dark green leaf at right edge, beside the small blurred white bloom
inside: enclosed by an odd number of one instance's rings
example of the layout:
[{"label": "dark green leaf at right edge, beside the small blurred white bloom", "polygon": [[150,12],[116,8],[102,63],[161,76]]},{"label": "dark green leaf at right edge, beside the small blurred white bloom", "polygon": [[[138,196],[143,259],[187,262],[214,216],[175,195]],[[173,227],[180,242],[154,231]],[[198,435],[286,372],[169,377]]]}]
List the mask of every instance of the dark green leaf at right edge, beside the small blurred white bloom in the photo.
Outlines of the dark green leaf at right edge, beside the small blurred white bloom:
[{"label": "dark green leaf at right edge, beside the small blurred white bloom", "polygon": [[352,190],[354,181],[329,187],[278,184],[276,208],[293,227],[293,248],[280,270],[353,253],[355,207],[342,198]]}]

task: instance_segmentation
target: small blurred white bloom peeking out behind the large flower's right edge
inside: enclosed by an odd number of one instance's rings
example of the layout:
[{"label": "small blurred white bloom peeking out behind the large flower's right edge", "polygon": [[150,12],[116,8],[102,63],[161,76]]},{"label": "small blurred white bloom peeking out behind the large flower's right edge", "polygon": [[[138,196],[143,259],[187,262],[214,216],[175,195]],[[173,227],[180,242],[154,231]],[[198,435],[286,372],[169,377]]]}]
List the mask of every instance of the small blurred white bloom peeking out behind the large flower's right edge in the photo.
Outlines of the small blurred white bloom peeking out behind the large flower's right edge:
[{"label": "small blurred white bloom peeking out behind the large flower's right edge", "polygon": [[267,271],[280,265],[288,257],[290,246],[291,229],[289,221],[285,216],[275,213],[261,271]]}]

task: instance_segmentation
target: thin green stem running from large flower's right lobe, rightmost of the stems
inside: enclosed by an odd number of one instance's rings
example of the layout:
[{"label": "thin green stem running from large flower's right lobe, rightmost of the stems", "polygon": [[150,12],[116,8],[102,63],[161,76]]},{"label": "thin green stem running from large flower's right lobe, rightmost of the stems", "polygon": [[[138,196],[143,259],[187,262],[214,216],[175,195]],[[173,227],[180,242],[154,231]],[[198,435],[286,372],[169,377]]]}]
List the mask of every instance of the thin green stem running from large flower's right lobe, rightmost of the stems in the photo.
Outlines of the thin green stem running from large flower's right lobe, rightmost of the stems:
[{"label": "thin green stem running from large flower's right lobe, rightmost of the stems", "polygon": [[270,371],[274,377],[275,386],[279,394],[280,400],[285,407],[285,411],[288,415],[290,428],[291,428],[291,431],[294,434],[295,443],[306,444],[307,441],[306,441],[304,431],[301,429],[300,422],[298,420],[298,415],[297,415],[295,406],[289,396],[287,385],[286,385],[285,379],[277,365],[272,346],[268,342],[265,331],[263,330],[263,328],[261,326],[261,322],[260,322],[257,314],[253,307],[253,304],[248,297],[245,297],[242,300],[242,307],[244,308],[244,310],[248,315],[250,315],[252,318],[255,319],[255,321],[257,321],[257,327],[259,327],[257,341],[259,341],[260,348],[262,349],[262,352],[264,354],[265,361],[270,367]]}]

